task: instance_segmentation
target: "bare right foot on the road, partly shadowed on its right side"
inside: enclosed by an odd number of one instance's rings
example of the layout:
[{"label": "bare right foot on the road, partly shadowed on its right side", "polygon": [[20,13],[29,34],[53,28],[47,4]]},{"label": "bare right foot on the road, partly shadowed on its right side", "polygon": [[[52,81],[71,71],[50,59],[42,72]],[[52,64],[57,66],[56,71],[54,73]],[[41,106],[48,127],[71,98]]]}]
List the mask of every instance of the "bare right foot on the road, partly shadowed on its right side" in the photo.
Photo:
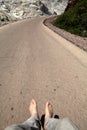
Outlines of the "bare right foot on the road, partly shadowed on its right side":
[{"label": "bare right foot on the road, partly shadowed on its right side", "polygon": [[50,102],[47,102],[45,107],[45,120],[51,118],[52,116],[53,116],[53,106]]}]

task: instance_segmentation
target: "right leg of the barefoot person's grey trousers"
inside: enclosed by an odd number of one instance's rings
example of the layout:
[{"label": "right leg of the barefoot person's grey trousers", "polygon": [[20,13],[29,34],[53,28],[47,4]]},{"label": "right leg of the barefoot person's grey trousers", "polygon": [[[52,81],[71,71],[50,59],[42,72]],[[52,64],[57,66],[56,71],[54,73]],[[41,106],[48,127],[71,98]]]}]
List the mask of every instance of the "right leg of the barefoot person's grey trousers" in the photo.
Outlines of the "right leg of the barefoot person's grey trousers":
[{"label": "right leg of the barefoot person's grey trousers", "polygon": [[45,123],[46,130],[78,130],[69,118],[54,119],[50,118]]}]

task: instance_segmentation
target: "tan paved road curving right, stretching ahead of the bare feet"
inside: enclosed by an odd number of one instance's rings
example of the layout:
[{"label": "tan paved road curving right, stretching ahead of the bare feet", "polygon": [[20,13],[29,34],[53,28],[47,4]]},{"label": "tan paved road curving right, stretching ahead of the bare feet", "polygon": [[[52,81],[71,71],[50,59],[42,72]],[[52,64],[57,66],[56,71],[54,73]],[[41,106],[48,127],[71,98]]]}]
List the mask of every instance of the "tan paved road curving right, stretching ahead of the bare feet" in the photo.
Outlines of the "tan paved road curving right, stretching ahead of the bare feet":
[{"label": "tan paved road curving right, stretching ahead of the bare feet", "polygon": [[0,29],[0,130],[50,100],[61,118],[87,130],[87,53],[42,24],[24,20]]}]

